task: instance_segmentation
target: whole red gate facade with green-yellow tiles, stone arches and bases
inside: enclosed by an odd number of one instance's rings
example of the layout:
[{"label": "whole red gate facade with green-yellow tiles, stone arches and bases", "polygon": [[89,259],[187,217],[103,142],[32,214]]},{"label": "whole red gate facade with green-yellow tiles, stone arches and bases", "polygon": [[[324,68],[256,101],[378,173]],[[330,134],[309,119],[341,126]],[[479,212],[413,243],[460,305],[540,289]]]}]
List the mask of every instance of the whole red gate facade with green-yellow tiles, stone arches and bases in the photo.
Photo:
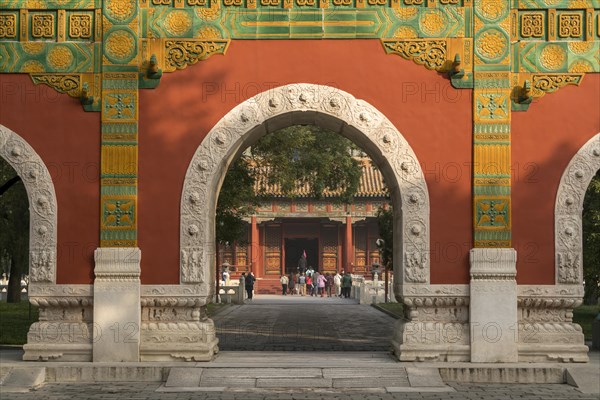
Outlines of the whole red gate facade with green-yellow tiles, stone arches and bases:
[{"label": "whole red gate facade with green-yellow tiles, stone arches and bases", "polygon": [[572,309],[600,167],[599,12],[0,1],[0,156],[28,191],[41,310],[25,358],[210,360],[227,167],[262,135],[316,124],[390,190],[399,359],[587,361]]}]

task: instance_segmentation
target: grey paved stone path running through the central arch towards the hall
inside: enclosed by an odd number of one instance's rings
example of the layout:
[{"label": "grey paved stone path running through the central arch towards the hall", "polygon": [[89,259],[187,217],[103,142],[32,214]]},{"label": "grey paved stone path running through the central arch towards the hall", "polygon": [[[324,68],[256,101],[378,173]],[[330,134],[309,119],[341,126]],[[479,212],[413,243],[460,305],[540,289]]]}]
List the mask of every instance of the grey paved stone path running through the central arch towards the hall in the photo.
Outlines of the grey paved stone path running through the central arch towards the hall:
[{"label": "grey paved stone path running through the central arch towards the hall", "polygon": [[396,320],[335,297],[258,295],[213,317],[227,351],[389,351]]}]

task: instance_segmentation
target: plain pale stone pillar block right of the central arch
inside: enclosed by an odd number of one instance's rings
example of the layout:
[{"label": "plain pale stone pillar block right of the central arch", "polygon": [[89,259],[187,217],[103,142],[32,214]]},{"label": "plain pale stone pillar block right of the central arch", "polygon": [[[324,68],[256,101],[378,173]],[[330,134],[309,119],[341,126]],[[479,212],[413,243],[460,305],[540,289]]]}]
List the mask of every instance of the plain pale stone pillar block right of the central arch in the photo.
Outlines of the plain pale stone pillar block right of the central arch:
[{"label": "plain pale stone pillar block right of the central arch", "polygon": [[471,250],[471,362],[517,362],[517,252]]}]

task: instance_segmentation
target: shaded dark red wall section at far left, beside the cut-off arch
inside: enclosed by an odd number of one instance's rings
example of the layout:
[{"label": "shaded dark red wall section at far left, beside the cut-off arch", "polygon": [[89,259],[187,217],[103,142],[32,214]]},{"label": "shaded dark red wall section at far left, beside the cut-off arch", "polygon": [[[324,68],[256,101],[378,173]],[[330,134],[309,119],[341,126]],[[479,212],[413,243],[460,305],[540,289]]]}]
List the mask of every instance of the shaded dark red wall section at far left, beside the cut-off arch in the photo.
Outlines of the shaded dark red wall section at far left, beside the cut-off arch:
[{"label": "shaded dark red wall section at far left, beside the cut-off arch", "polygon": [[100,114],[77,99],[0,74],[0,124],[23,137],[50,171],[58,201],[57,283],[91,283],[99,244]]}]

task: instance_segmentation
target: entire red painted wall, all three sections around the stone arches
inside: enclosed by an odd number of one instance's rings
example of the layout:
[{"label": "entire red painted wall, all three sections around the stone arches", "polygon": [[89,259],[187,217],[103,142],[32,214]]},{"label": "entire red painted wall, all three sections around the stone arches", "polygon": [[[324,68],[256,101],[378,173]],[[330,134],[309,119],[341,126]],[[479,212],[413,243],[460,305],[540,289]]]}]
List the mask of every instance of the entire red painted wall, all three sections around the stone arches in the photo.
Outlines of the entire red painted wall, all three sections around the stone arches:
[{"label": "entire red painted wall, all three sections around the stone arches", "polygon": [[[330,85],[366,100],[404,135],[424,169],[431,201],[431,282],[467,283],[472,247],[471,91],[398,56],[377,40],[234,41],[140,92],[139,246],[143,283],[179,281],[183,179],[204,136],[237,104],[288,83]],[[554,200],[562,171],[600,131],[600,77],[513,114],[513,237],[519,283],[554,282]],[[59,210],[59,283],[89,283],[99,239],[99,113],[0,75],[0,123],[49,166]],[[533,163],[533,164],[530,164]],[[532,166],[533,165],[533,166]]]}]

